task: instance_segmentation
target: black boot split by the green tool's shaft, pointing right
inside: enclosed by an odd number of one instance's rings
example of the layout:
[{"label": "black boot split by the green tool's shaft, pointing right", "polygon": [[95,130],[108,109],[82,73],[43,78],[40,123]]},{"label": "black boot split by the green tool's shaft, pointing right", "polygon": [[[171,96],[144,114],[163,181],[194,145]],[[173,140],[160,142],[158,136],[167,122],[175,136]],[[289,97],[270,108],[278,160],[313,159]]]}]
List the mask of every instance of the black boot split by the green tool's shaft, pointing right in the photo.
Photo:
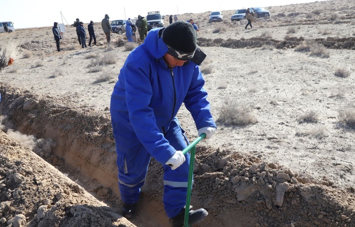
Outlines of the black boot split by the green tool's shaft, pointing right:
[{"label": "black boot split by the green tool's shaft, pointing right", "polygon": [[[197,224],[199,222],[202,222],[207,217],[207,215],[208,212],[203,208],[198,210],[189,210],[188,224]],[[182,227],[184,224],[184,220],[185,220],[185,208],[182,208],[182,210],[177,216],[169,220],[169,223],[171,223],[172,227]]]}]

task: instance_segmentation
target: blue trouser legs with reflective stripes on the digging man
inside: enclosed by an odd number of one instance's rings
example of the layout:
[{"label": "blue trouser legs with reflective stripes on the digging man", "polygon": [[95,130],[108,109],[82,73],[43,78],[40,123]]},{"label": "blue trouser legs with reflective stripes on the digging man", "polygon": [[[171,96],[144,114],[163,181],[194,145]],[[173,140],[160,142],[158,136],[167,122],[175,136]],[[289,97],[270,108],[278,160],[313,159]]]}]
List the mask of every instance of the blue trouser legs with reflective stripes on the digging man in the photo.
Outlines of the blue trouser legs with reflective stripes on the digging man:
[{"label": "blue trouser legs with reflective stripes on the digging man", "polygon": [[[121,199],[125,203],[138,201],[144,184],[150,161],[150,153],[139,142],[136,135],[112,120],[113,135],[116,142],[118,185]],[[186,148],[188,140],[179,127],[178,120],[171,122],[165,138],[177,151]],[[138,157],[138,158],[137,158]],[[169,218],[178,215],[186,203],[188,170],[190,154],[185,154],[186,161],[176,170],[170,166],[164,168],[164,209]]]}]

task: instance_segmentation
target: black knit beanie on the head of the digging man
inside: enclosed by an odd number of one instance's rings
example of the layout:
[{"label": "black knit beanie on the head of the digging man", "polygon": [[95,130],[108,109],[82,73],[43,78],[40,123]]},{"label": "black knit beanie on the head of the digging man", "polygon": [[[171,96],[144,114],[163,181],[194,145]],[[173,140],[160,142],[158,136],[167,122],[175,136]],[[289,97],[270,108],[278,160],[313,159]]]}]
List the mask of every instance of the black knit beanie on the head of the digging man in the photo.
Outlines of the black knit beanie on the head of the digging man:
[{"label": "black knit beanie on the head of the digging man", "polygon": [[179,60],[189,60],[197,48],[196,32],[190,23],[177,21],[163,31],[162,38],[168,53]]}]

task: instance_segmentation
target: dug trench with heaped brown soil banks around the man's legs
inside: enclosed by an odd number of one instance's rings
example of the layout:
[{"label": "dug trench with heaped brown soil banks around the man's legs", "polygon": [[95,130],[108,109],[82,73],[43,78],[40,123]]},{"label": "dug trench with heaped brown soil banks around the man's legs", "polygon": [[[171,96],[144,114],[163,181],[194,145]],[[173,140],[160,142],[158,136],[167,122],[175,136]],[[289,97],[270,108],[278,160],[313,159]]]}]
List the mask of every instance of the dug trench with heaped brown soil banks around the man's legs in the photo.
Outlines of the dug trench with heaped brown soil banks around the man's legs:
[{"label": "dug trench with heaped brown soil banks around the man's legs", "polygon": [[[3,83],[0,93],[2,131],[16,130],[50,145],[31,151],[1,132],[0,225],[168,226],[161,202],[163,169],[155,160],[133,224],[119,216],[109,115]],[[191,199],[210,214],[196,227],[355,226],[354,188],[316,182],[223,148],[197,147]]]}]

